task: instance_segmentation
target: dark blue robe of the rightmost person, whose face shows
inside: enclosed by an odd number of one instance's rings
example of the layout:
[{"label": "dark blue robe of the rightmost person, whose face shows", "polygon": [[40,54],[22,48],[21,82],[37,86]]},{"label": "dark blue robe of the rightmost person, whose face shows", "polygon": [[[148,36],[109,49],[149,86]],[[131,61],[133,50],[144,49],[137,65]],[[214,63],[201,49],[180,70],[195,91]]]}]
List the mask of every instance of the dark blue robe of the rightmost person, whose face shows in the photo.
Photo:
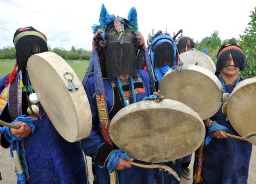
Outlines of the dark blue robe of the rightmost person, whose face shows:
[{"label": "dark blue robe of the rightmost person, whose face shows", "polygon": [[[234,85],[225,85],[225,90],[227,93],[231,93],[234,90]],[[216,120],[217,123],[227,127],[229,133],[238,135],[229,121],[226,121],[221,108],[211,120]],[[202,182],[200,184],[246,184],[251,152],[252,144],[247,141],[234,138],[213,138],[211,143],[204,147]],[[195,163],[197,160],[195,157]],[[195,172],[196,167],[194,167]]]}]

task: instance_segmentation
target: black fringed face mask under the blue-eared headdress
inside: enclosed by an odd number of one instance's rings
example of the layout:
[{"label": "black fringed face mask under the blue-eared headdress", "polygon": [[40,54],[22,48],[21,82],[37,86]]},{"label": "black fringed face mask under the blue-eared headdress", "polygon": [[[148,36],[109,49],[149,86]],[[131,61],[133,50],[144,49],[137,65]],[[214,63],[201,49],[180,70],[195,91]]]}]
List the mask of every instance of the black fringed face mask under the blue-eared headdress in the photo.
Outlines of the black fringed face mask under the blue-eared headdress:
[{"label": "black fringed face mask under the blue-eared headdress", "polygon": [[107,35],[104,48],[107,78],[114,81],[117,76],[136,76],[136,48],[133,37],[123,34]]}]

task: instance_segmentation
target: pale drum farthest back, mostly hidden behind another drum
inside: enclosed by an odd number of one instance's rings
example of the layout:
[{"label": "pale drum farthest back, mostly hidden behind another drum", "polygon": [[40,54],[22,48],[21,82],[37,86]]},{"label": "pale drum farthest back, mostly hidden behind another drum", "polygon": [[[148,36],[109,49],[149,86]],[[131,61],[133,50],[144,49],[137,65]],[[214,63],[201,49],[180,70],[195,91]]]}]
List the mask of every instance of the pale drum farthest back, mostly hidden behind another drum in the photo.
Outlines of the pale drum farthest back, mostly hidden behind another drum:
[{"label": "pale drum farthest back, mostly hidden behind another drum", "polygon": [[195,64],[215,73],[216,67],[213,63],[213,60],[211,60],[208,55],[204,54],[201,51],[190,50],[187,52],[183,52],[182,54],[180,54],[180,59],[185,65]]}]

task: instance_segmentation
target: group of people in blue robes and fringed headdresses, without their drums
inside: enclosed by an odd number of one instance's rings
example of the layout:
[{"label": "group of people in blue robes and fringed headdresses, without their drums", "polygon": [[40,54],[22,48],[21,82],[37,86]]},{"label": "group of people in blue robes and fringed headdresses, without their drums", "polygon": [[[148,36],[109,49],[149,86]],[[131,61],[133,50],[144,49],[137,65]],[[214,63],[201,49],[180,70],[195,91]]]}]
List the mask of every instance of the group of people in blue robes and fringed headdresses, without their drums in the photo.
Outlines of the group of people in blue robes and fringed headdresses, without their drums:
[{"label": "group of people in blue robes and fringed headdresses, without their drums", "polygon": [[[60,136],[40,103],[37,103],[37,121],[28,116],[27,108],[31,103],[28,95],[33,93],[33,87],[27,72],[27,61],[33,54],[48,51],[48,46],[46,36],[31,26],[19,28],[15,32],[13,43],[16,66],[13,72],[0,78],[0,119],[18,124],[20,129],[1,127],[0,143],[2,147],[15,148],[19,153],[23,173],[17,174],[17,183],[89,183],[84,154],[93,161],[93,183],[110,183],[109,174],[113,169],[117,171],[120,184],[180,183],[164,170],[132,167],[129,164],[131,158],[111,144],[108,133],[102,135],[97,97],[103,86],[108,120],[111,120],[124,106],[139,102],[157,91],[164,74],[178,63],[178,54],[194,48],[193,40],[181,37],[175,42],[169,34],[158,31],[147,49],[138,30],[135,8],[129,12],[128,19],[123,19],[108,14],[102,5],[99,23],[93,27],[95,35],[90,60],[92,64],[89,66],[99,63],[101,71],[91,67],[87,69],[83,80],[92,111],[92,132],[88,138],[76,143],[69,143]],[[239,73],[244,66],[245,55],[239,45],[225,44],[219,49],[216,76],[223,81],[226,93],[231,93],[236,84],[243,81]],[[102,78],[102,84],[95,84],[98,78]],[[20,86],[23,86],[22,90],[17,90]],[[201,168],[198,168],[198,157],[195,156],[194,173],[199,169],[201,176],[195,177],[193,182],[247,183],[252,144],[227,138],[225,130],[238,134],[222,114],[221,108],[204,123],[206,129],[220,125],[224,128],[213,132],[211,143],[204,146]],[[191,178],[192,172],[188,168],[190,158],[188,156],[163,164],[173,168],[179,175],[183,173],[185,177]]]}]

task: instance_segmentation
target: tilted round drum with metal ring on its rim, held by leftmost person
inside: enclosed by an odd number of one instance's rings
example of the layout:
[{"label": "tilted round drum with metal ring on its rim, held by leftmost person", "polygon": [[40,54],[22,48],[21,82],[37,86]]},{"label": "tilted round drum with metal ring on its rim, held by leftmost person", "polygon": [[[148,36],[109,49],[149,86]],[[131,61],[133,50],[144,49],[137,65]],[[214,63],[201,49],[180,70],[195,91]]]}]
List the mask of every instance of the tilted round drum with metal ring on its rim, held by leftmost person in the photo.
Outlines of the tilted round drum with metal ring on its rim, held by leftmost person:
[{"label": "tilted round drum with metal ring on its rim, held by leftmost person", "polygon": [[[69,142],[89,136],[90,104],[72,67],[59,55],[43,52],[29,58],[27,70],[34,91],[58,133]],[[72,79],[77,90],[71,89],[67,79]]]}]

